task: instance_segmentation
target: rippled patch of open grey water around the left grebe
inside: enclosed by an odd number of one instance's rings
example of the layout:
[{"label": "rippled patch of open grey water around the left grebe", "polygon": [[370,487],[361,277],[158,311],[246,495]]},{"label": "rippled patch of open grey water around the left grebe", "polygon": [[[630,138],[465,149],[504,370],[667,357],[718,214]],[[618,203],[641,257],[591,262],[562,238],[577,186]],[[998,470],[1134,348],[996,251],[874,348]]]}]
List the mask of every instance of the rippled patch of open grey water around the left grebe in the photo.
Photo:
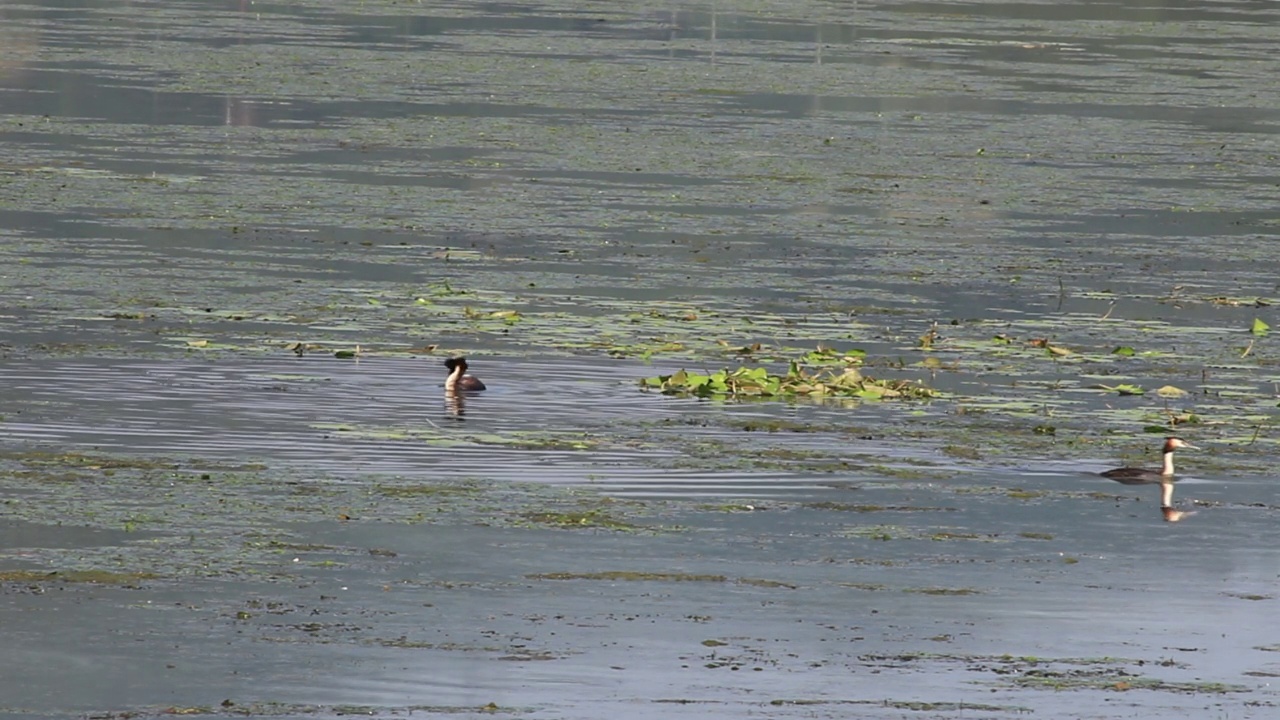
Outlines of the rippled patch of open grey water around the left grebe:
[{"label": "rippled patch of open grey water around the left grebe", "polygon": [[[641,393],[634,363],[479,359],[489,384],[447,406],[439,359],[8,361],[5,442],[133,455],[269,459],[323,473],[608,484],[645,495],[759,495],[795,473],[660,469],[662,442],[620,439],[696,404]],[[800,483],[806,484],[806,483]]]}]

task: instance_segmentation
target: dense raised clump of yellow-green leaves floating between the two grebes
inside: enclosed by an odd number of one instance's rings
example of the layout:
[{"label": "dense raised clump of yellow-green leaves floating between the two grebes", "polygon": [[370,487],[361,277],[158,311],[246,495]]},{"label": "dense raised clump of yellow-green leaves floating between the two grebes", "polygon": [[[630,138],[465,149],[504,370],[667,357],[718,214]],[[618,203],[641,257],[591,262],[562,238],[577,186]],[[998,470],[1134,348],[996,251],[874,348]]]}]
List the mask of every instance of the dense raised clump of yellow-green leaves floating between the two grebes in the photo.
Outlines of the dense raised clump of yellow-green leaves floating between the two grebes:
[{"label": "dense raised clump of yellow-green leaves floating between the two grebes", "polygon": [[792,360],[783,375],[765,368],[723,369],[700,374],[678,370],[645,378],[640,386],[666,395],[695,397],[858,397],[863,400],[923,400],[938,393],[911,380],[878,380],[859,369],[860,356],[849,356],[844,366],[805,370]]}]

